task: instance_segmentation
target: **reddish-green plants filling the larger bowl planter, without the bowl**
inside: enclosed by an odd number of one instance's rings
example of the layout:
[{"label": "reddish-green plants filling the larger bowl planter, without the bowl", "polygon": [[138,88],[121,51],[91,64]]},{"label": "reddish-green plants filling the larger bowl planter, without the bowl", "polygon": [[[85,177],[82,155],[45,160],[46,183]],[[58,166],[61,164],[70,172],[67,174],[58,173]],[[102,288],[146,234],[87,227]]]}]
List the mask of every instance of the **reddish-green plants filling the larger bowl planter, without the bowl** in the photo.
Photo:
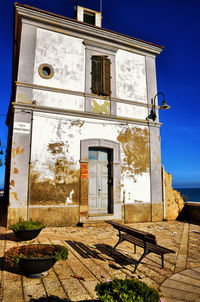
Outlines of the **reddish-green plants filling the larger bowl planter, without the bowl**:
[{"label": "reddish-green plants filling the larger bowl planter, without the bowl", "polygon": [[20,258],[47,258],[55,256],[56,260],[68,259],[68,248],[58,244],[29,244],[14,246],[5,253],[5,260],[10,265],[19,263]]}]

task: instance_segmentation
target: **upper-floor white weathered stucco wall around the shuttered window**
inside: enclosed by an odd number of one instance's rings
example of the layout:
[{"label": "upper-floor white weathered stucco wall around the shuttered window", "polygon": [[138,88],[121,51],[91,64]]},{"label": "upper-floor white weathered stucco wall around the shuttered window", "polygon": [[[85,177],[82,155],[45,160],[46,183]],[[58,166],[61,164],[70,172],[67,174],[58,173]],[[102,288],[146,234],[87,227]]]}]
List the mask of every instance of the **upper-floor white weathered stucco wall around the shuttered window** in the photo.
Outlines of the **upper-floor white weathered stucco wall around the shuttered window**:
[{"label": "upper-floor white weathered stucco wall around the shuttered window", "polygon": [[[89,98],[86,101],[82,96],[69,96],[61,91],[61,89],[64,89],[84,92],[86,89],[85,78],[87,79],[86,86],[89,85],[88,87],[91,87],[91,71],[85,66],[86,52],[83,42],[84,40],[76,37],[37,28],[33,84],[60,89],[60,91],[52,92],[50,90],[33,89],[32,98],[38,105],[42,106],[81,111],[84,111],[84,108],[87,107],[90,108],[89,111],[94,113],[110,115],[112,110],[111,102],[108,101],[109,98],[106,98],[106,100]],[[92,55],[107,55],[107,50],[105,49],[104,53],[101,47],[98,50],[98,47],[95,46],[95,49],[91,52]],[[111,96],[146,104],[145,56],[119,49],[116,52],[116,56],[110,55],[110,57],[112,61]],[[90,65],[90,61],[91,55],[87,64]],[[52,66],[54,72],[52,78],[44,79],[39,75],[38,69],[41,64]],[[88,92],[91,93],[90,88]],[[26,95],[28,96],[29,93],[26,92]],[[23,94],[23,99],[27,98],[26,95]],[[20,100],[22,101],[22,98]],[[85,102],[87,105],[84,105]],[[145,119],[148,116],[147,107],[124,102],[115,104],[115,114],[117,116],[136,119]]]}]

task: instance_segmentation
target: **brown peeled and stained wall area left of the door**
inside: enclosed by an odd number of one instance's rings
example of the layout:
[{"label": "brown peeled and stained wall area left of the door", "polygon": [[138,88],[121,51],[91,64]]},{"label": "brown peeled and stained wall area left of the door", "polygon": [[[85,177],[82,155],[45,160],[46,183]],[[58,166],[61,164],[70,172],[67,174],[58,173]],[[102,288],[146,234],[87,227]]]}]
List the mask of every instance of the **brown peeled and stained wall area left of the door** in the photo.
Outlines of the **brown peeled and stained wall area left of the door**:
[{"label": "brown peeled and stained wall area left of the door", "polygon": [[43,178],[31,166],[30,173],[30,204],[32,205],[64,205],[69,199],[73,204],[79,204],[80,169],[75,162],[68,161],[63,152],[64,143],[56,142],[48,145],[48,151],[53,155],[49,170],[54,178]]}]

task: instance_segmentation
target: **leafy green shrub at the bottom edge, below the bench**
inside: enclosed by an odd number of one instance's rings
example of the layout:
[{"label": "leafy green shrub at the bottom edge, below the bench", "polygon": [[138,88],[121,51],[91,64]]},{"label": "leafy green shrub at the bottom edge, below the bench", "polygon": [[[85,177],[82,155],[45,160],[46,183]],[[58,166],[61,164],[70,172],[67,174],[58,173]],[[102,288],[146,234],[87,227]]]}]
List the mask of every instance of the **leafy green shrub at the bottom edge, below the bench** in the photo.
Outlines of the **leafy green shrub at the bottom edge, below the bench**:
[{"label": "leafy green shrub at the bottom edge, below the bench", "polygon": [[160,302],[157,290],[137,279],[115,279],[95,287],[101,302]]}]

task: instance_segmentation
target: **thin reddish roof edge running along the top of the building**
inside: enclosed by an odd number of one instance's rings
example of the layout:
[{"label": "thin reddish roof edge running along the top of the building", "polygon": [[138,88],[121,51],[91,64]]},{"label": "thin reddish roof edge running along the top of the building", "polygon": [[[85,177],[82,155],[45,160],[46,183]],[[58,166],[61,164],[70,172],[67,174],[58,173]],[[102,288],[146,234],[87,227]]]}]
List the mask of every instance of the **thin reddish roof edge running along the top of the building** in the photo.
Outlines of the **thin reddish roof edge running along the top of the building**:
[{"label": "thin reddish roof edge running along the top of the building", "polygon": [[58,14],[52,13],[52,12],[48,12],[48,11],[46,11],[46,10],[42,10],[42,9],[39,9],[39,8],[36,8],[36,7],[33,7],[33,6],[29,6],[29,5],[26,5],[26,4],[20,4],[20,3],[18,3],[18,2],[15,2],[14,5],[15,5],[15,6],[24,7],[24,8],[28,8],[28,9],[30,9],[30,10],[34,10],[34,11],[37,11],[37,12],[45,13],[45,14],[48,14],[48,15],[50,15],[50,16],[54,16],[54,17],[57,17],[57,18],[65,19],[65,20],[68,20],[68,21],[71,21],[71,22],[74,22],[74,23],[84,24],[84,25],[86,25],[86,26],[88,26],[88,27],[97,28],[98,30],[102,30],[102,31],[104,31],[104,32],[110,32],[110,33],[113,33],[113,34],[116,34],[116,35],[119,35],[119,36],[122,36],[122,37],[125,37],[125,38],[132,39],[132,40],[134,40],[134,41],[139,41],[139,42],[142,42],[142,43],[145,43],[145,44],[149,44],[149,45],[158,47],[158,48],[160,48],[160,49],[163,49],[163,48],[164,48],[164,46],[156,45],[156,44],[154,44],[154,43],[147,42],[147,41],[144,41],[144,40],[141,40],[141,39],[137,39],[137,38],[134,38],[134,37],[125,35],[125,34],[121,34],[121,33],[118,33],[118,32],[112,31],[112,30],[109,30],[109,29],[105,29],[105,28],[103,28],[103,27],[97,27],[97,26],[95,26],[95,25],[91,25],[91,24],[88,24],[88,23],[85,23],[85,22],[81,22],[81,21],[78,21],[78,20],[75,20],[75,19],[71,19],[71,18],[62,16],[62,15],[58,15]]}]

